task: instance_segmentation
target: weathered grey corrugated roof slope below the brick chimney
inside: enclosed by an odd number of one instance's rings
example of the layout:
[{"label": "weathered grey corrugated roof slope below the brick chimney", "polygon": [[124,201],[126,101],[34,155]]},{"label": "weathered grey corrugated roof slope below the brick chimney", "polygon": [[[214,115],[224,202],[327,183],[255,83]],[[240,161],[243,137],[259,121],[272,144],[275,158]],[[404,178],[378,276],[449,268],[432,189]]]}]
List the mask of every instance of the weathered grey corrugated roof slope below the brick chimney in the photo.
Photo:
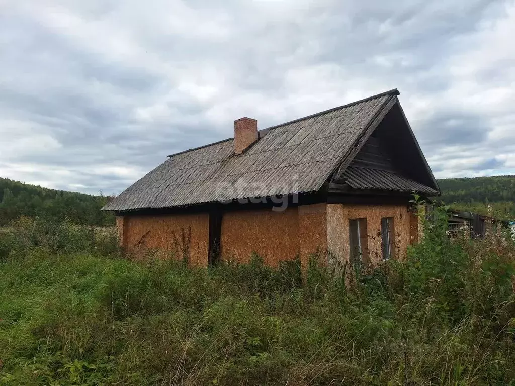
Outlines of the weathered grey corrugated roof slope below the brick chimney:
[{"label": "weathered grey corrugated roof slope below the brick chimney", "polygon": [[[173,154],[105,210],[163,208],[313,192],[355,155],[363,135],[397,103],[397,90],[261,131],[241,155],[234,139]],[[372,129],[373,130],[373,129]]]}]

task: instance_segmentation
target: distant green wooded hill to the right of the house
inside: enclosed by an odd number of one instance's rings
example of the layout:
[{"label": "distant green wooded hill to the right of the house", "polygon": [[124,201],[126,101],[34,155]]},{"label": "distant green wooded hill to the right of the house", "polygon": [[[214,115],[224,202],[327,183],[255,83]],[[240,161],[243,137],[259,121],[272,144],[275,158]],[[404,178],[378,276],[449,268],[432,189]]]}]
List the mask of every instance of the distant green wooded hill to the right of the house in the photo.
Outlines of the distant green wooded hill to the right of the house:
[{"label": "distant green wooded hill to the right of the house", "polygon": [[515,176],[444,179],[438,180],[438,185],[438,199],[451,207],[497,218],[515,218]]}]

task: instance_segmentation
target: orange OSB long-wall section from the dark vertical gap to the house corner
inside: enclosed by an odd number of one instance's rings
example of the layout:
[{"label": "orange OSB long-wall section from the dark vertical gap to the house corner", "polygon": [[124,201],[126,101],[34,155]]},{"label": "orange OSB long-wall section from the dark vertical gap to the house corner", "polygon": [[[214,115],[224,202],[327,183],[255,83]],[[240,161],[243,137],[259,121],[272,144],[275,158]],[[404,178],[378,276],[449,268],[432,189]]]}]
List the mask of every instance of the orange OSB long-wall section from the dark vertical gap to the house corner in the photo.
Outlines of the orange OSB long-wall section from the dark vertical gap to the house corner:
[{"label": "orange OSB long-wall section from the dark vertical gap to the house corner", "polygon": [[221,258],[243,263],[256,252],[266,265],[277,267],[280,261],[300,255],[305,266],[310,254],[326,248],[325,219],[325,203],[289,207],[282,212],[259,209],[224,213]]}]

